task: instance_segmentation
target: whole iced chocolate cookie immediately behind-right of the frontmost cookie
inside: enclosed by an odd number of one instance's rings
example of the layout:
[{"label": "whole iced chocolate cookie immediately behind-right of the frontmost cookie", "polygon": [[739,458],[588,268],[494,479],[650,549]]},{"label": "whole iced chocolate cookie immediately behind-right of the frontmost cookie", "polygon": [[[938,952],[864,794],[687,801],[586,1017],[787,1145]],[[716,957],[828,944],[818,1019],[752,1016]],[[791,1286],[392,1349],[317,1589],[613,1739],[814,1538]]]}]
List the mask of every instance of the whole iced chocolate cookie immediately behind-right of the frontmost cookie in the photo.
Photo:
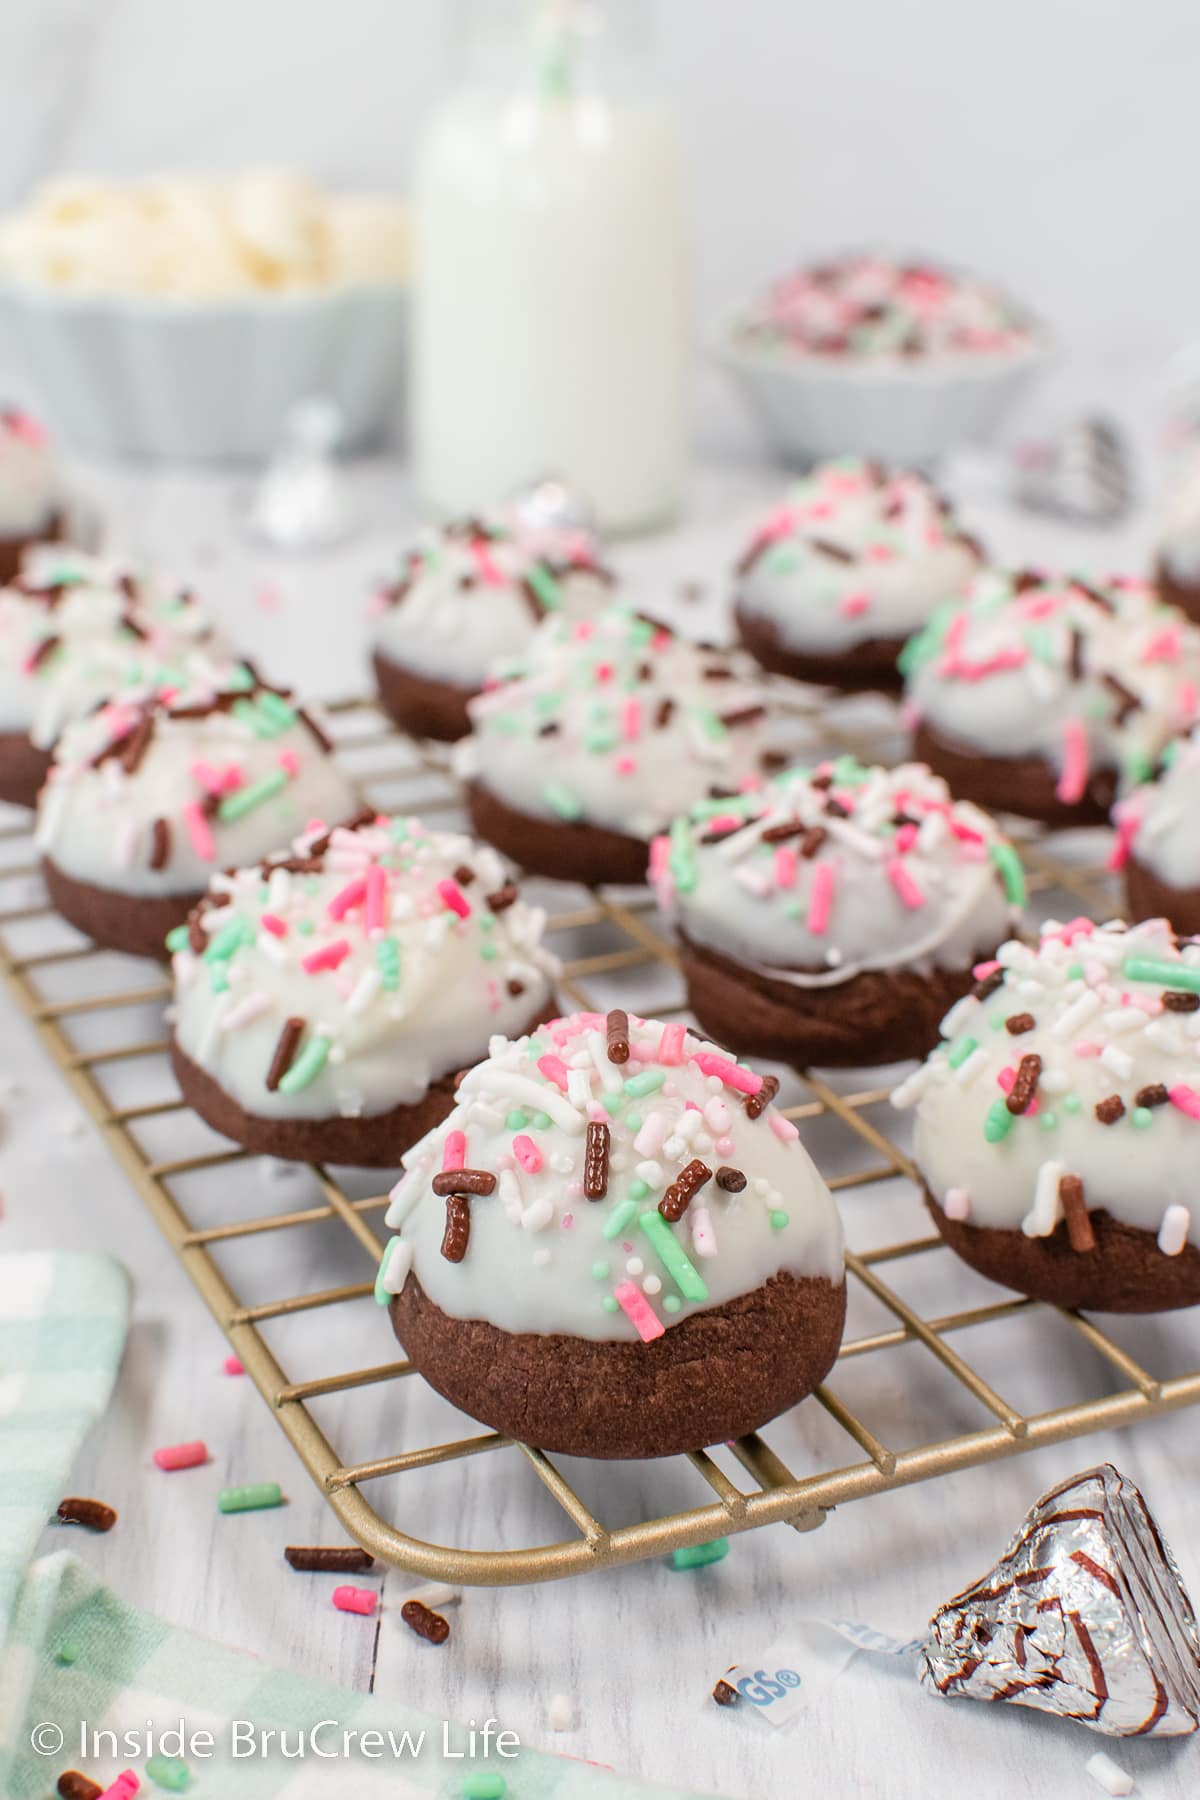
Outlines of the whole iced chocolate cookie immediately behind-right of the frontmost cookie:
[{"label": "whole iced chocolate cookie immediately behind-right of the frontmost cookie", "polygon": [[655,839],[651,880],[703,1030],[795,1064],[923,1057],[1025,900],[986,814],[919,763],[849,756],[705,801]]}]

